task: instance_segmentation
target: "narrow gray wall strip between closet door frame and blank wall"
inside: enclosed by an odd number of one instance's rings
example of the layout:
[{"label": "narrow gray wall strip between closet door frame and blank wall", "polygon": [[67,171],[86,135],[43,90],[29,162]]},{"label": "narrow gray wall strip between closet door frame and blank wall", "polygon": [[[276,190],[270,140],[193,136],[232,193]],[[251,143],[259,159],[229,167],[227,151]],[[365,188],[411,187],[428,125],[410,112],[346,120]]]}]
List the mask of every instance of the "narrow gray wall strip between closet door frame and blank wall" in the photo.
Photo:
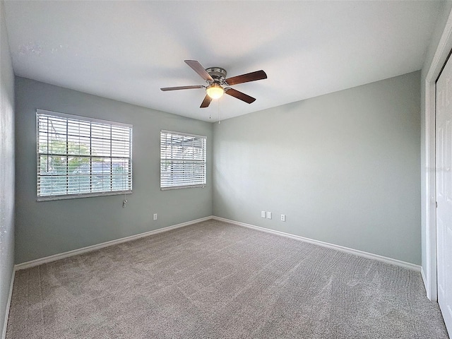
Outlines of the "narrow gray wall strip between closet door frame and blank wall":
[{"label": "narrow gray wall strip between closet door frame and blank wall", "polygon": [[425,214],[425,172],[427,170],[425,166],[425,79],[427,78],[427,73],[432,65],[433,57],[436,52],[436,48],[438,47],[439,40],[441,39],[441,35],[443,34],[444,27],[446,25],[447,18],[449,13],[451,13],[452,9],[452,1],[444,1],[443,8],[440,11],[440,16],[436,21],[436,26],[434,28],[434,32],[432,37],[430,38],[430,44],[426,52],[426,57],[424,60],[424,66],[422,67],[421,72],[421,211],[422,211],[422,269],[424,270],[427,267],[427,245],[426,245],[426,214]]}]

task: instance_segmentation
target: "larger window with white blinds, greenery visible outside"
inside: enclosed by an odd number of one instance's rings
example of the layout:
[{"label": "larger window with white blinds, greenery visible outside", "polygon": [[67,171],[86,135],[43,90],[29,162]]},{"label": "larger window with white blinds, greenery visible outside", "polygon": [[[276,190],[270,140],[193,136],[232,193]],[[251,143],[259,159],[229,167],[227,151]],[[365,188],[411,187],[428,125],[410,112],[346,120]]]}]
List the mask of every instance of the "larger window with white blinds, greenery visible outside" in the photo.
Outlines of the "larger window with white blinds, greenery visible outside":
[{"label": "larger window with white blinds, greenery visible outside", "polygon": [[132,126],[37,109],[37,200],[132,193]]}]

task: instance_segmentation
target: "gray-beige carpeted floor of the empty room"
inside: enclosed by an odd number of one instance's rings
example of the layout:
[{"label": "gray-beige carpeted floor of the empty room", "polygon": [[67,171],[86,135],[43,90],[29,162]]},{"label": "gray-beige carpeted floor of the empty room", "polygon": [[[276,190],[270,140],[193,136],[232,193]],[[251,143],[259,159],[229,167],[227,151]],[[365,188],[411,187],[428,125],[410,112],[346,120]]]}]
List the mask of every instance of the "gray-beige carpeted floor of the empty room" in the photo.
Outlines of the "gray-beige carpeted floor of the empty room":
[{"label": "gray-beige carpeted floor of the empty room", "polygon": [[6,338],[448,336],[420,273],[209,220],[19,270]]}]

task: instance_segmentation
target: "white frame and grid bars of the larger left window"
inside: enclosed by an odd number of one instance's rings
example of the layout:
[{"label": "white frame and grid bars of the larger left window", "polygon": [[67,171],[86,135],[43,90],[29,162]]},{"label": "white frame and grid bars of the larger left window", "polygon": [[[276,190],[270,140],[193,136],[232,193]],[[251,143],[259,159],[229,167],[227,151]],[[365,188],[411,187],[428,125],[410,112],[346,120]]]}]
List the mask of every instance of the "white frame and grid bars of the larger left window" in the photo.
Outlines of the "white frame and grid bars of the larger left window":
[{"label": "white frame and grid bars of the larger left window", "polygon": [[[76,155],[75,157],[88,157],[90,158],[90,169],[89,169],[89,174],[88,176],[91,178],[93,177],[93,158],[103,158],[105,159],[109,159],[110,160],[110,180],[113,180],[113,172],[112,172],[112,160],[113,159],[124,159],[126,160],[126,162],[128,162],[128,166],[126,167],[128,170],[125,173],[126,178],[127,178],[127,183],[126,183],[126,187],[127,189],[121,189],[121,190],[109,190],[109,191],[93,191],[93,186],[91,186],[91,181],[90,181],[90,191],[86,192],[83,191],[81,193],[67,193],[69,186],[67,186],[68,184],[66,184],[66,194],[45,194],[45,195],[40,195],[40,187],[41,187],[41,178],[44,177],[42,174],[40,174],[40,157],[42,156],[52,156],[52,154],[56,154],[56,153],[51,153],[49,152],[49,150],[47,150],[46,153],[40,153],[40,117],[42,116],[49,116],[49,117],[55,117],[55,118],[60,118],[60,119],[71,119],[71,120],[75,120],[75,121],[83,121],[85,123],[89,123],[89,124],[103,124],[103,125],[107,125],[110,126],[110,128],[112,126],[116,126],[116,127],[121,127],[121,128],[126,128],[129,129],[129,154],[128,156],[116,156],[116,155],[112,155],[112,138],[107,139],[110,140],[110,146],[109,146],[109,150],[110,150],[110,154],[109,155],[93,155],[92,154],[92,141],[93,141],[93,133],[90,131],[90,136],[89,136],[89,140],[90,140],[90,154],[87,155]],[[68,124],[68,120],[66,120],[66,126]],[[67,127],[66,127],[67,128]],[[133,135],[133,125],[131,124],[125,124],[122,122],[117,122],[117,121],[110,121],[110,120],[102,120],[102,119],[95,119],[95,118],[91,118],[91,117],[83,117],[80,115],[75,115],[75,114],[66,114],[66,113],[60,113],[60,112],[53,112],[53,111],[49,111],[49,110],[45,110],[45,109],[36,109],[36,197],[37,197],[37,201],[54,201],[54,200],[64,200],[64,199],[72,199],[72,198],[89,198],[89,197],[93,197],[93,196],[114,196],[114,195],[123,195],[123,194],[132,194],[132,189],[133,189],[133,180],[132,180],[132,135]],[[66,142],[68,140],[68,135],[67,135],[67,131],[66,131]],[[69,158],[72,155],[71,153],[69,153],[69,151],[67,150],[67,145],[66,145],[66,153],[62,153],[62,154],[58,154],[61,157],[66,156],[66,158]],[[67,168],[67,165],[66,165]],[[64,175],[61,175],[61,177],[64,177]],[[66,181],[68,180],[69,173],[66,172]],[[92,180],[92,179],[90,179]],[[112,184],[110,184],[110,186],[112,187]]]}]

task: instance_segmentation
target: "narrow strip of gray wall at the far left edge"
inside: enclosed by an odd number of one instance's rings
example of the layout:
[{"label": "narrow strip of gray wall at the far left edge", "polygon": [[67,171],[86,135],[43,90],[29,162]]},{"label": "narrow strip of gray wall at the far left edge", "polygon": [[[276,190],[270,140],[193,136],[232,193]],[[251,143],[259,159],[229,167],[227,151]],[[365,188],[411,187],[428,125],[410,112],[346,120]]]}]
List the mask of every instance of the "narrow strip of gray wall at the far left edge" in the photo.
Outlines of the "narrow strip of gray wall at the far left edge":
[{"label": "narrow strip of gray wall at the far left edge", "polygon": [[14,73],[0,1],[0,335],[14,266]]}]

